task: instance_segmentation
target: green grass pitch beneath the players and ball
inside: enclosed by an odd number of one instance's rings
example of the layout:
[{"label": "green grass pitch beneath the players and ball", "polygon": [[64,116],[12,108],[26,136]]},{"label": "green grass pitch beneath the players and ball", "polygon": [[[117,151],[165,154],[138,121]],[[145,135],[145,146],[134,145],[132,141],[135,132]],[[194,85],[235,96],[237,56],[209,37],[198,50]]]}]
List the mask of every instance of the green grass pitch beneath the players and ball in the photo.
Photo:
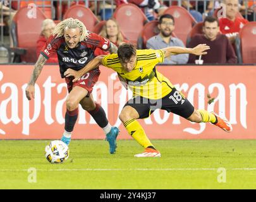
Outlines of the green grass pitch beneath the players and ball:
[{"label": "green grass pitch beneath the players and ball", "polygon": [[114,155],[107,141],[72,140],[58,165],[44,157],[48,142],[0,140],[0,189],[256,188],[255,140],[152,140],[161,158],[133,157],[143,151],[134,140],[119,140]]}]

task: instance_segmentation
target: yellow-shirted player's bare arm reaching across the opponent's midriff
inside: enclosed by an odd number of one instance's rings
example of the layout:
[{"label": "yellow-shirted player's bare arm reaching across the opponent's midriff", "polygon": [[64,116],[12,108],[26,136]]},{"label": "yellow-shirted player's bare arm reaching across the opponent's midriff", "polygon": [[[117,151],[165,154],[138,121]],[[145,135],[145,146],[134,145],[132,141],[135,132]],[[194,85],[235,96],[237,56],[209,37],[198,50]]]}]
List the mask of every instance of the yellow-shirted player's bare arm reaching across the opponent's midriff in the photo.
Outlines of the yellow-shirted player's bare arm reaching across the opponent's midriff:
[{"label": "yellow-shirted player's bare arm reaching across the opponent's midriff", "polygon": [[83,74],[88,73],[92,69],[96,69],[100,64],[102,64],[103,57],[104,56],[95,57],[92,61],[88,62],[88,64],[83,69],[80,69],[79,71],[75,71],[74,69],[68,68],[64,72],[64,76],[66,77],[74,76],[75,78],[72,81],[75,82],[79,80],[80,77],[83,76]]}]

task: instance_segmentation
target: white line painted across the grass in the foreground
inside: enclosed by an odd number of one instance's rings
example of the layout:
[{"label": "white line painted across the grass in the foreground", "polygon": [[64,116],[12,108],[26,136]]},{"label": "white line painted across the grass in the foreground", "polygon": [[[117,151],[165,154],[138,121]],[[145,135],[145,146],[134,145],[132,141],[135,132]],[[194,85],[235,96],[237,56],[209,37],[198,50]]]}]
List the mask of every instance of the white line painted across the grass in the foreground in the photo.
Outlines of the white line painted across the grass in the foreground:
[{"label": "white line painted across the grass in the foreground", "polygon": [[[35,168],[36,169],[36,168]],[[217,170],[219,168],[166,168],[166,169],[36,169],[42,172],[63,172],[63,171],[197,171]],[[226,170],[256,170],[256,168],[232,168]],[[28,169],[0,169],[0,172],[28,172]]]}]

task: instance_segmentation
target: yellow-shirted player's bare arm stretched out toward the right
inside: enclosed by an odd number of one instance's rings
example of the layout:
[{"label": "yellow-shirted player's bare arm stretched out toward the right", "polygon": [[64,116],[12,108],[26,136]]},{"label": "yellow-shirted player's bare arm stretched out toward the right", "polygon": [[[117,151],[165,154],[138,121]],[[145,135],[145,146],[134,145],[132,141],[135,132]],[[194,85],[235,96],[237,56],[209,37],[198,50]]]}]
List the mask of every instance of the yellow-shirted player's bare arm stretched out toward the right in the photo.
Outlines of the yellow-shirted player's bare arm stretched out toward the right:
[{"label": "yellow-shirted player's bare arm stretched out toward the right", "polygon": [[205,55],[207,54],[206,50],[209,50],[209,45],[206,44],[199,44],[193,48],[185,48],[185,47],[167,47],[162,49],[164,51],[164,57],[169,57],[171,55],[176,54],[194,54],[196,56]]}]

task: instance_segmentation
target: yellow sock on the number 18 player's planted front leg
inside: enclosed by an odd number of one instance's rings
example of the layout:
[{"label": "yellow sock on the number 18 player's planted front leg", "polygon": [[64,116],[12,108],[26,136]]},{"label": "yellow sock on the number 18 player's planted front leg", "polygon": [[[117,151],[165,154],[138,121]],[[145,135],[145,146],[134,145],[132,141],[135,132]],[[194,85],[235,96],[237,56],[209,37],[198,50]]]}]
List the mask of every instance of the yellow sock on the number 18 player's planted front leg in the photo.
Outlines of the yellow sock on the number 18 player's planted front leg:
[{"label": "yellow sock on the number 18 player's planted front leg", "polygon": [[148,146],[153,146],[152,143],[150,143],[149,138],[147,138],[147,135],[145,134],[145,131],[143,130],[142,126],[140,126],[140,123],[136,121],[135,119],[131,119],[129,121],[126,121],[124,123],[124,126],[128,133],[140,144],[143,146],[143,148],[147,148]]}]

